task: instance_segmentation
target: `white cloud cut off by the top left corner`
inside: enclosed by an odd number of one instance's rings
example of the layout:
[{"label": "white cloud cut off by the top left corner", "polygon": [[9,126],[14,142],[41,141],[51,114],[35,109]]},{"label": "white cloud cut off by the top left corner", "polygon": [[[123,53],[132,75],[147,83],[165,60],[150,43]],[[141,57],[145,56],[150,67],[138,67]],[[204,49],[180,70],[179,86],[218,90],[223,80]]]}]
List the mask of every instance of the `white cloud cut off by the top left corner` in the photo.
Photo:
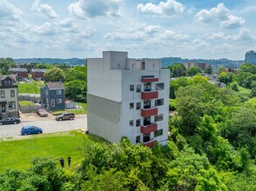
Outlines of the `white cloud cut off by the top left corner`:
[{"label": "white cloud cut off by the top left corner", "polygon": [[3,25],[3,22],[13,22],[18,21],[24,16],[22,10],[17,9],[13,4],[1,0],[0,1],[0,25]]}]

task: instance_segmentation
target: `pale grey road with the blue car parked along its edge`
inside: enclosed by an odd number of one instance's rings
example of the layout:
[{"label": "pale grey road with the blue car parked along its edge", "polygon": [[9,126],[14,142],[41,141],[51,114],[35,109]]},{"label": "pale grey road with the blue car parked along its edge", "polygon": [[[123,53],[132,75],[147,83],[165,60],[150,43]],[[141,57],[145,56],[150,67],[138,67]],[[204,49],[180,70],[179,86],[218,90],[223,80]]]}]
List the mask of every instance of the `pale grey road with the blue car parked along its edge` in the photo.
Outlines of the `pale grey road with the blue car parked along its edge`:
[{"label": "pale grey road with the blue car parked along its edge", "polygon": [[37,122],[21,122],[16,125],[1,125],[0,138],[19,137],[23,126],[34,125],[43,128],[43,134],[70,131],[76,129],[87,129],[87,117],[76,118],[75,120],[67,120],[58,122],[53,119]]}]

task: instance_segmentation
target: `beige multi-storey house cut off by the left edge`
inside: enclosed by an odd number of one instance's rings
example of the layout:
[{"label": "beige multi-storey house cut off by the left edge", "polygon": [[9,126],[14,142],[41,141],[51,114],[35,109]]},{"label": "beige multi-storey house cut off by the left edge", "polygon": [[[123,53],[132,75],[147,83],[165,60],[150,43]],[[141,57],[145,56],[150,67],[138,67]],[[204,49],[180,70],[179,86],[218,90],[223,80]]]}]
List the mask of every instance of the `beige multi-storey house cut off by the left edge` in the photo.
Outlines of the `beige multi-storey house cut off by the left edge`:
[{"label": "beige multi-storey house cut off by the left edge", "polygon": [[11,75],[0,75],[0,118],[18,117],[17,81]]}]

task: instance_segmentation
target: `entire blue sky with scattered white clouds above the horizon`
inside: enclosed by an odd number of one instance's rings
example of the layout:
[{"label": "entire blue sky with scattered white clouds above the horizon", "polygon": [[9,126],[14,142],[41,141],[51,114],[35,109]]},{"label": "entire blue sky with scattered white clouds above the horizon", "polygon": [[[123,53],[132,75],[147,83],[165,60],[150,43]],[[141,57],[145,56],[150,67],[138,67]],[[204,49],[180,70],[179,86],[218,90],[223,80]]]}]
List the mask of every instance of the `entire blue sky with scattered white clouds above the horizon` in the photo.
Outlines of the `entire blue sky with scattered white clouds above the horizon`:
[{"label": "entire blue sky with scattered white clouds above the horizon", "polygon": [[0,57],[245,59],[256,0],[0,0]]}]

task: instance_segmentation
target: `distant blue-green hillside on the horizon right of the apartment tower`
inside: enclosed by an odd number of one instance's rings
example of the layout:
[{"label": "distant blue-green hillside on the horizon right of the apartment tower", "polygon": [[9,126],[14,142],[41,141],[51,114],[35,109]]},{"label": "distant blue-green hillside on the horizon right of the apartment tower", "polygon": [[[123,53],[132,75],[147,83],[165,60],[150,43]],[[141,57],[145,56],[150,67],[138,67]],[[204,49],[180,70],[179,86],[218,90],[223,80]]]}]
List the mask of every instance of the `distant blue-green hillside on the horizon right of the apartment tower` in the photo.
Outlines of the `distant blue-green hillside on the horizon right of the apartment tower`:
[{"label": "distant blue-green hillside on the horizon right of the apartment tower", "polygon": [[222,58],[219,60],[211,59],[211,60],[206,60],[206,59],[182,59],[180,57],[163,57],[161,58],[161,65],[163,68],[172,65],[173,63],[188,63],[188,62],[195,62],[195,63],[210,63],[211,65],[224,65],[227,67],[232,67],[232,68],[239,68],[239,65],[241,63],[245,63],[244,60],[239,60],[239,61],[232,61],[232,60],[227,60],[226,58]]}]

